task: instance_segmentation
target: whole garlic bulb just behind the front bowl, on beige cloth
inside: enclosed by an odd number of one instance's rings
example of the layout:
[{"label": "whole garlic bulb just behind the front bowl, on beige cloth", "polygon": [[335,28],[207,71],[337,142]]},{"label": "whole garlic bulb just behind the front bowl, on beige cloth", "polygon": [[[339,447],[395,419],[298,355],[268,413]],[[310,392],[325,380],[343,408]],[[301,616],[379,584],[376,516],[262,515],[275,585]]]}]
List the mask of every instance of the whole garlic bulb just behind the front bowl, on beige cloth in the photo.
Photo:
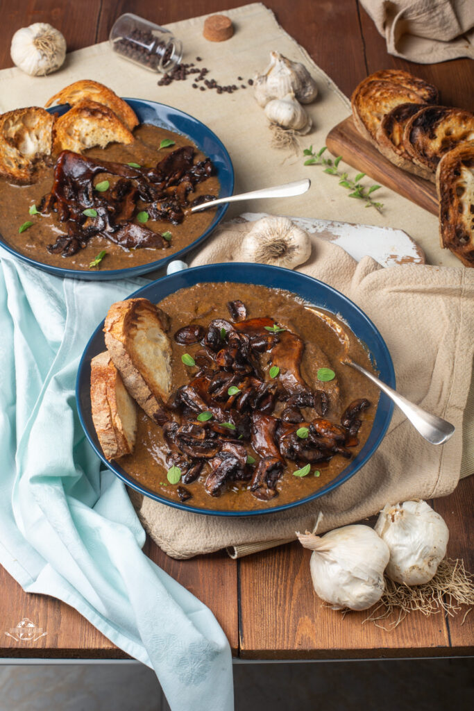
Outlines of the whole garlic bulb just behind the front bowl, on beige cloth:
[{"label": "whole garlic bulb just behind the front bowl, on beige cloth", "polygon": [[308,233],[288,218],[268,217],[257,220],[240,246],[242,262],[276,264],[293,269],[311,255]]}]

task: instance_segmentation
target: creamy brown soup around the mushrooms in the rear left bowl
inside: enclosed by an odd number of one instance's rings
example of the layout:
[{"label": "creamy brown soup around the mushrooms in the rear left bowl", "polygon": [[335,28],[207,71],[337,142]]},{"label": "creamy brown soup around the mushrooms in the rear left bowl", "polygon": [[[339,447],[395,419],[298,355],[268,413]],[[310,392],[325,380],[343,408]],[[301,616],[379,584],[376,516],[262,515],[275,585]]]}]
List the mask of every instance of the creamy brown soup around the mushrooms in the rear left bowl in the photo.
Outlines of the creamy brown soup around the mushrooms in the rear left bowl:
[{"label": "creamy brown soup around the mushrooms in the rear left bowl", "polygon": [[[161,129],[156,126],[143,124],[134,131],[135,141],[130,145],[110,144],[105,149],[93,148],[85,151],[85,156],[117,163],[135,163],[140,166],[156,166],[172,151],[182,146],[194,145],[188,138],[179,134]],[[173,146],[160,149],[163,139],[174,141]],[[205,158],[203,153],[196,149],[194,163]],[[94,183],[100,183],[109,178],[114,184],[114,177],[101,173],[95,176]],[[146,227],[153,232],[171,232],[171,240],[167,249],[141,248],[126,249],[114,244],[104,237],[92,237],[87,246],[77,254],[63,257],[61,254],[50,254],[48,245],[55,242],[58,235],[64,234],[65,228],[58,220],[58,215],[50,212],[48,215],[30,215],[31,205],[39,205],[41,198],[47,195],[53,185],[53,167],[43,168],[38,172],[36,183],[31,186],[14,186],[0,179],[0,235],[4,241],[14,247],[21,254],[31,259],[54,267],[63,269],[90,269],[89,265],[99,252],[105,250],[105,255],[100,262],[101,271],[107,269],[124,269],[139,264],[147,264],[168,257],[183,249],[193,242],[208,228],[215,216],[215,209],[210,208],[203,212],[187,214],[180,225],[172,225],[165,220],[148,220]],[[195,200],[203,195],[219,195],[219,181],[217,176],[211,176],[195,186],[195,191],[190,193],[189,200]],[[146,210],[146,204],[139,201],[136,213]],[[18,228],[31,221],[33,225],[19,233]],[[136,222],[136,217],[132,220]]]}]

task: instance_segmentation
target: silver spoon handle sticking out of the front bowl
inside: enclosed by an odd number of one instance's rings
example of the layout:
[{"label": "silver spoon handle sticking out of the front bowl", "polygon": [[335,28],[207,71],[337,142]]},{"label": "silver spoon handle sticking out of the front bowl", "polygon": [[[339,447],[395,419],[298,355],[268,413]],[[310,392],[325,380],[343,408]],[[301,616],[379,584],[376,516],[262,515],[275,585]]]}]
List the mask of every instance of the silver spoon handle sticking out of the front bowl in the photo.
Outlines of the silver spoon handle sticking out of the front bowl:
[{"label": "silver spoon handle sticking out of the front bowl", "polygon": [[354,363],[353,360],[347,358],[343,363],[345,363],[345,365],[351,365],[352,368],[355,368],[355,370],[366,375],[369,380],[372,380],[372,383],[375,383],[382,392],[394,401],[395,405],[398,405],[407,419],[413,424],[414,428],[421,434],[421,437],[424,437],[428,442],[431,442],[431,444],[443,444],[452,437],[454,427],[449,422],[446,422],[446,419],[431,415],[429,412],[426,412],[426,410],[423,410],[422,407],[419,407],[419,405],[415,405],[414,402],[406,400],[406,397],[399,395],[398,392],[392,390],[392,387],[382,383],[382,380],[379,380],[379,378],[376,378],[375,375],[372,375],[368,370],[362,368],[362,365]]}]

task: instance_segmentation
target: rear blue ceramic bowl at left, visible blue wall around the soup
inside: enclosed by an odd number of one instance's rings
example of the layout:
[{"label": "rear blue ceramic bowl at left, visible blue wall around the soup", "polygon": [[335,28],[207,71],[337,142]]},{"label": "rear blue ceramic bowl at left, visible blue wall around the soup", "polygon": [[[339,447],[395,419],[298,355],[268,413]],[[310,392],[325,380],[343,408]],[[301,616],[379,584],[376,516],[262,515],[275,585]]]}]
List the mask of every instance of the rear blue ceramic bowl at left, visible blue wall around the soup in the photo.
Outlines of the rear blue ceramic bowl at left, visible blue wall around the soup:
[{"label": "rear blue ceramic bowl at left, visible blue wall around the soup", "polygon": [[[212,133],[205,124],[198,121],[198,119],[193,118],[189,114],[185,114],[183,111],[178,109],[173,109],[171,106],[166,106],[165,104],[158,104],[154,101],[145,101],[142,99],[124,99],[134,109],[139,122],[142,124],[153,124],[153,126],[159,126],[160,128],[167,129],[168,131],[174,131],[175,133],[187,136],[200,151],[206,156],[209,156],[212,163],[217,169],[217,177],[220,181],[220,192],[219,197],[225,198],[231,196],[234,191],[234,169],[232,167],[232,161],[230,156],[225,149],[222,141],[217,138],[215,133]],[[65,114],[70,109],[68,104],[61,106],[54,106],[48,109],[50,113],[57,112],[62,115]],[[135,277],[138,274],[146,274],[146,272],[152,272],[154,269],[160,269],[161,267],[166,267],[169,262],[173,260],[180,260],[183,256],[193,250],[195,247],[200,245],[206,237],[209,237],[212,230],[217,227],[222,218],[224,217],[228,204],[219,205],[215,213],[212,223],[203,232],[202,235],[197,237],[190,245],[183,247],[179,252],[173,252],[172,255],[162,257],[154,262],[149,262],[148,264],[139,264],[136,267],[126,267],[126,269],[98,269],[97,271],[91,270],[90,272],[82,271],[80,269],[68,269],[67,267],[52,267],[50,264],[43,264],[43,262],[38,262],[33,260],[26,255],[21,254],[11,247],[7,242],[4,241],[0,234],[0,245],[4,247],[5,250],[10,252],[18,259],[31,264],[33,267],[38,267],[38,269],[43,269],[45,272],[50,274],[55,274],[57,277],[73,277],[75,279],[92,279],[92,280],[104,280],[104,279],[125,279],[126,277]],[[65,264],[68,260],[65,258]]]}]

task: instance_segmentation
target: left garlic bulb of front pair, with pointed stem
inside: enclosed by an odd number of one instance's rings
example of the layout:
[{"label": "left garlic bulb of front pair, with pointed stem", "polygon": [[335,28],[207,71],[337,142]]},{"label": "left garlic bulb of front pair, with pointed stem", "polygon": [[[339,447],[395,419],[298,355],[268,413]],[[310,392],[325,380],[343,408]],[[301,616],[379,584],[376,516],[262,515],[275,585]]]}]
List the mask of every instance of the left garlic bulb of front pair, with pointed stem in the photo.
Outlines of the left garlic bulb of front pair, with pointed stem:
[{"label": "left garlic bulb of front pair, with pointed stem", "polygon": [[313,551],[311,579],[316,593],[334,610],[366,610],[384,592],[384,570],[389,548],[369,526],[336,528],[323,536],[297,533]]}]

